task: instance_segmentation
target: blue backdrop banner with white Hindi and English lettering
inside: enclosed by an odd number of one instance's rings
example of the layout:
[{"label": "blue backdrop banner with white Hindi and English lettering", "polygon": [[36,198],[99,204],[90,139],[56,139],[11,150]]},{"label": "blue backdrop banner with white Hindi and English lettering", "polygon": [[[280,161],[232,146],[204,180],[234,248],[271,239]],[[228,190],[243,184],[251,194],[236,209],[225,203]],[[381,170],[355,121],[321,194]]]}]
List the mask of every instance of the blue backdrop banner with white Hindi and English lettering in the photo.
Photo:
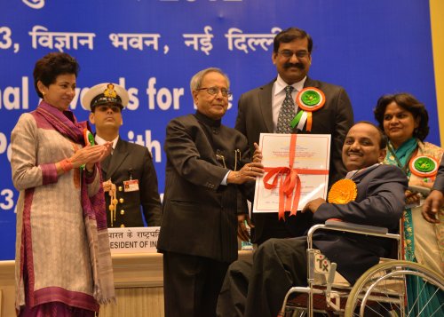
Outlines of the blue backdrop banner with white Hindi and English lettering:
[{"label": "blue backdrop banner with white Hindi and English lettering", "polygon": [[[431,117],[428,140],[440,144],[428,1],[417,0],[108,0],[0,2],[0,260],[14,258],[15,204],[11,131],[39,99],[32,72],[48,52],[80,64],[71,109],[79,120],[89,87],[123,85],[121,138],[148,147],[164,191],[165,126],[194,113],[189,80],[220,67],[231,80],[233,127],[242,92],[270,82],[273,38],[281,29],[313,37],[313,79],[345,87],[355,120],[373,121],[385,93],[408,91]],[[69,202],[67,202],[69,203]]]}]

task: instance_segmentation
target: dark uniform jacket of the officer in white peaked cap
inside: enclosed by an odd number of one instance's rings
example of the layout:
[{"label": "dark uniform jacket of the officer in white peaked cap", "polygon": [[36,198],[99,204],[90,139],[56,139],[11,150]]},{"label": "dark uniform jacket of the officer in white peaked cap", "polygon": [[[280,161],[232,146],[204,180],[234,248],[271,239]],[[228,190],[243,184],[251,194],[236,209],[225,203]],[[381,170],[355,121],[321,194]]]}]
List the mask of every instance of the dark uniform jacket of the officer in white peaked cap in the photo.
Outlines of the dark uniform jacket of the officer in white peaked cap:
[{"label": "dark uniform jacket of the officer in white peaked cap", "polygon": [[[161,225],[161,200],[157,186],[157,176],[153,158],[147,147],[139,146],[118,139],[113,155],[107,167],[102,164],[103,180],[111,181],[117,187],[117,210],[113,226],[144,226],[140,206],[147,226]],[[139,180],[139,191],[124,192],[123,181]],[[110,198],[105,193],[107,201],[107,226],[111,226],[108,206]],[[121,202],[120,200],[123,200]]]}]

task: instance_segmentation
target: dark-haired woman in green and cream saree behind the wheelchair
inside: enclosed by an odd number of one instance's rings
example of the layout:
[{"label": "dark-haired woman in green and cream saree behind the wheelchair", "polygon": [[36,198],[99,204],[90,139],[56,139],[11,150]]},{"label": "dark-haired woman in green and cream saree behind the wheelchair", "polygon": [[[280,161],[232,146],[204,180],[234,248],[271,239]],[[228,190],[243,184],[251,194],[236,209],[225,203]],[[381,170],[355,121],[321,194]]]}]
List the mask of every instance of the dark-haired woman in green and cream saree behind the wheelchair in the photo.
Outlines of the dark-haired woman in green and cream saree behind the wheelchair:
[{"label": "dark-haired woman in green and cream saree behind the wheelchair", "polygon": [[[385,95],[377,100],[374,114],[389,140],[384,163],[400,167],[408,177],[409,186],[432,188],[444,150],[424,142],[429,133],[429,115],[424,104],[408,93]],[[427,222],[421,215],[421,198],[415,190],[406,192],[407,204],[401,222],[402,256],[442,274],[444,210],[438,215],[440,223]],[[409,306],[416,298],[420,301],[429,298],[426,292],[416,291],[418,283],[422,281],[408,279]],[[435,307],[440,307],[440,303]]]}]

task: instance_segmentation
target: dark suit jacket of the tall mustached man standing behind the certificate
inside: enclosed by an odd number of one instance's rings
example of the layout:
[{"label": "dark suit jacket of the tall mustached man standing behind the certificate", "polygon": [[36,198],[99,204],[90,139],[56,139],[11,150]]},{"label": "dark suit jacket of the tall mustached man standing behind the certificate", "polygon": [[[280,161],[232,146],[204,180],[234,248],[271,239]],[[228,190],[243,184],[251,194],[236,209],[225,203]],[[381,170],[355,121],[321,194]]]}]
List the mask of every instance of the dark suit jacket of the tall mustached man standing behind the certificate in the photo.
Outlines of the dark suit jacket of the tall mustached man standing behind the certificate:
[{"label": "dark suit jacket of the tall mustached man standing behind the certificate", "polygon": [[[239,99],[235,129],[241,131],[247,137],[251,153],[254,152],[253,143],[258,143],[261,132],[274,132],[272,113],[274,81],[242,94]],[[342,146],[345,135],[353,125],[352,105],[344,88],[340,86],[316,81],[309,77],[305,80],[304,86],[316,87],[325,94],[325,105],[320,110],[313,112],[312,131],[300,131],[299,133],[331,134],[329,167],[329,185],[331,185],[345,176]],[[260,241],[263,227],[266,226],[266,222],[269,220],[266,215],[253,215],[255,224],[253,230],[254,242]]]}]

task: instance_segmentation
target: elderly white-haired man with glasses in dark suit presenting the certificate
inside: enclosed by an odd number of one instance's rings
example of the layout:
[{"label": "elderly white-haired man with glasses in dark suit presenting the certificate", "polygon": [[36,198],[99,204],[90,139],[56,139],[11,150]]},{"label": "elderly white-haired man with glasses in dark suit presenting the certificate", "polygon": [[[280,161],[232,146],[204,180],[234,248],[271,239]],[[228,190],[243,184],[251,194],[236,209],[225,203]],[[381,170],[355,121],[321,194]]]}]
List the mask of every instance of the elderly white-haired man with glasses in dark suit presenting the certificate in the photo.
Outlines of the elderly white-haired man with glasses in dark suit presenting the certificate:
[{"label": "elderly white-haired man with glasses in dark suit presenting the certificate", "polygon": [[[237,258],[237,214],[244,212],[262,164],[250,162],[247,139],[221,124],[228,77],[207,68],[191,79],[197,111],[168,123],[163,222],[165,316],[216,315],[228,265]],[[250,181],[250,186],[247,183]],[[245,184],[244,184],[245,183]],[[246,237],[244,237],[246,239]]]}]

